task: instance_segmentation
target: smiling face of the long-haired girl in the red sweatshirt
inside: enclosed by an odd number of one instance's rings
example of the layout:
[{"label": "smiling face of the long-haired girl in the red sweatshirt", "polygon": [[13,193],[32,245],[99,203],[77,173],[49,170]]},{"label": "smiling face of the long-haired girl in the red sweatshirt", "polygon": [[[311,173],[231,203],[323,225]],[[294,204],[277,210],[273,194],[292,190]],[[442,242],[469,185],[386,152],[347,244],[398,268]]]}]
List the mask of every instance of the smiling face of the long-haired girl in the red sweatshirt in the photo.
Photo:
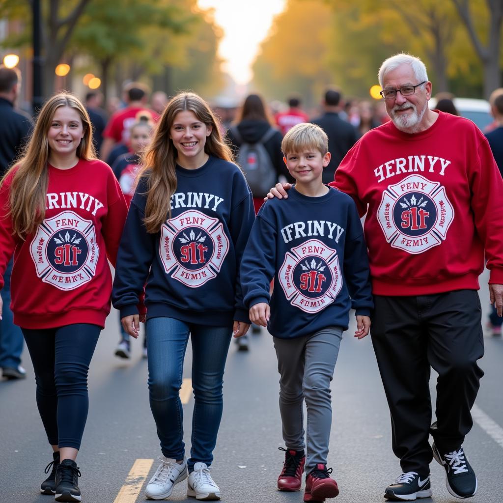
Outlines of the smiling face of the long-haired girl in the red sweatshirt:
[{"label": "smiling face of the long-haired girl in the red sweatshirt", "polygon": [[76,150],[83,136],[84,129],[79,113],[70,107],[57,108],[47,132],[51,154],[76,157]]}]

